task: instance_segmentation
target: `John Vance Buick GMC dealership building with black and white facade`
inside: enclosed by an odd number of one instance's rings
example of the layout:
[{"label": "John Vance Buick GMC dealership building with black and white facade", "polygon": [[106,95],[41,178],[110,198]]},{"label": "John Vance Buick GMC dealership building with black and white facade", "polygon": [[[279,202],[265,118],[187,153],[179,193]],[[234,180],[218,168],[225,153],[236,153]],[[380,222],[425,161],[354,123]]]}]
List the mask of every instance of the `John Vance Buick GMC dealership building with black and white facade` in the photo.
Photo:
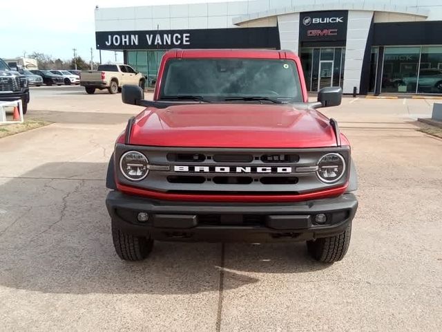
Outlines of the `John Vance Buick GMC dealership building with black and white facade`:
[{"label": "John Vance Buick GMC dealership building with black and white facade", "polygon": [[[191,0],[189,0],[191,2]],[[97,49],[155,77],[171,48],[298,54],[309,91],[442,94],[440,0],[250,0],[96,8]]]}]

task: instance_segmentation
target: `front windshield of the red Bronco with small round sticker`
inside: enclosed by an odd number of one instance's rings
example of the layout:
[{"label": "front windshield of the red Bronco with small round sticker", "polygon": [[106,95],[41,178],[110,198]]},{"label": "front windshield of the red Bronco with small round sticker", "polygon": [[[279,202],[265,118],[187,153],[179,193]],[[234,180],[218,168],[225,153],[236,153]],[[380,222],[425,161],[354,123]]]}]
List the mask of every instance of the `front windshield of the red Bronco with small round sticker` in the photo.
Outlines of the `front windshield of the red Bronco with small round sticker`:
[{"label": "front windshield of the red Bronco with small round sticker", "polygon": [[284,59],[171,59],[160,99],[200,96],[205,100],[263,97],[302,102],[296,63]]}]

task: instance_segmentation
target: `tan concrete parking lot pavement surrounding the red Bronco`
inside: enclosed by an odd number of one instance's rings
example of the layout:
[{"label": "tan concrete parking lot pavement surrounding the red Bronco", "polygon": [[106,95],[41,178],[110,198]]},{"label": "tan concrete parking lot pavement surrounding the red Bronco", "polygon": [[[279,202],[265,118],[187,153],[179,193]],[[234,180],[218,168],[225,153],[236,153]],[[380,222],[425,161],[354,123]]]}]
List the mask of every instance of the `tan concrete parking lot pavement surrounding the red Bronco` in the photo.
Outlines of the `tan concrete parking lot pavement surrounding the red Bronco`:
[{"label": "tan concrete parking lot pavement surrounding the red Bronco", "polygon": [[113,249],[104,176],[141,109],[32,88],[28,117],[55,123],[0,140],[0,330],[439,331],[442,140],[414,125],[432,102],[324,109],[358,168],[343,261],[318,264],[302,243],[163,242],[128,263]]}]

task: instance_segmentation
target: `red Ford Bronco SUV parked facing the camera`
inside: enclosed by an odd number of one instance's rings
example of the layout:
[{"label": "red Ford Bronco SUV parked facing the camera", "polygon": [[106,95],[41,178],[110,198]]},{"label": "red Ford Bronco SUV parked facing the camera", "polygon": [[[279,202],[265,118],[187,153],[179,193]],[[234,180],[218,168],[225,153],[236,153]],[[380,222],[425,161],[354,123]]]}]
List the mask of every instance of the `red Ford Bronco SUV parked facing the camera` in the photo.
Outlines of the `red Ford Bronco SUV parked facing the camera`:
[{"label": "red Ford Bronco SUV parked facing the camera", "polygon": [[306,241],[314,259],[347,252],[358,201],[347,138],[309,102],[299,58],[285,50],[170,50],[153,101],[117,138],[106,205],[121,259],[161,241]]}]

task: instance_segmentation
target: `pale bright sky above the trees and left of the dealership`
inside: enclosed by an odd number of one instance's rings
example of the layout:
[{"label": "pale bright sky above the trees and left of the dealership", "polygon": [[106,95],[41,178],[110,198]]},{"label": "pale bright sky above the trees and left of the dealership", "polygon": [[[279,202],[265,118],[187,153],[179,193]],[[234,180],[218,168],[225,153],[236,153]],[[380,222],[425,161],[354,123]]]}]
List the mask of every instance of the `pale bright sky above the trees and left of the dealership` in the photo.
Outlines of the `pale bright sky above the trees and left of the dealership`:
[{"label": "pale bright sky above the trees and left of the dealership", "polygon": [[[95,6],[128,7],[175,3],[222,2],[223,0],[0,0],[0,57],[23,56],[26,52],[46,53],[71,59],[73,48],[86,61],[95,50]],[[224,0],[226,1],[226,0]],[[234,1],[234,0],[233,0]],[[102,51],[103,61],[113,60],[113,52]],[[119,55],[118,61],[122,61]]]}]

